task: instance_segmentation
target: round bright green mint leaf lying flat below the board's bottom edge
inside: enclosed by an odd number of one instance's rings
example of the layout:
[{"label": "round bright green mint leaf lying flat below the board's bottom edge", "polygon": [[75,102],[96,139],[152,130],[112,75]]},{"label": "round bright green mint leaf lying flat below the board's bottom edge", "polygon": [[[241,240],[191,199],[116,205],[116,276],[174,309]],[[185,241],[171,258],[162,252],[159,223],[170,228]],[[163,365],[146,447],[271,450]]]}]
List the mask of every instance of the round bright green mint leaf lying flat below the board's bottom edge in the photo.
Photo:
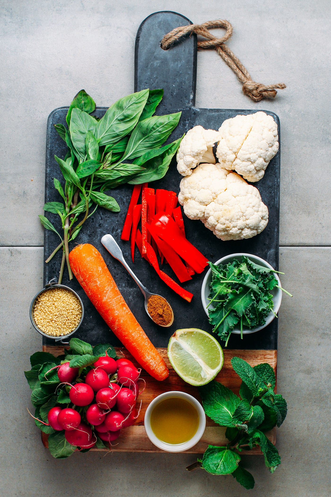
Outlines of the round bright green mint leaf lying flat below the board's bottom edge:
[{"label": "round bright green mint leaf lying flat below the board's bottom edge", "polygon": [[208,445],[202,457],[202,468],[212,475],[229,475],[237,469],[240,456],[226,447]]}]

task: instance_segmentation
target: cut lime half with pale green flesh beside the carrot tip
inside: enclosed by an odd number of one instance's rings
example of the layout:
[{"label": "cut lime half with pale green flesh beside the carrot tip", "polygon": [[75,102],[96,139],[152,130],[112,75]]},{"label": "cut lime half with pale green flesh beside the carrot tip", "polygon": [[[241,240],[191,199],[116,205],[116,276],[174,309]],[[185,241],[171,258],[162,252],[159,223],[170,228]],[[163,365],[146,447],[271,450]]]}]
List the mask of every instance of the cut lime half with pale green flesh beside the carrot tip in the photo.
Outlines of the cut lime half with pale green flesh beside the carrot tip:
[{"label": "cut lime half with pale green flesh beside the carrot tip", "polygon": [[215,378],[224,361],[218,341],[197,328],[175,331],[169,340],[168,357],[176,373],[195,386]]}]

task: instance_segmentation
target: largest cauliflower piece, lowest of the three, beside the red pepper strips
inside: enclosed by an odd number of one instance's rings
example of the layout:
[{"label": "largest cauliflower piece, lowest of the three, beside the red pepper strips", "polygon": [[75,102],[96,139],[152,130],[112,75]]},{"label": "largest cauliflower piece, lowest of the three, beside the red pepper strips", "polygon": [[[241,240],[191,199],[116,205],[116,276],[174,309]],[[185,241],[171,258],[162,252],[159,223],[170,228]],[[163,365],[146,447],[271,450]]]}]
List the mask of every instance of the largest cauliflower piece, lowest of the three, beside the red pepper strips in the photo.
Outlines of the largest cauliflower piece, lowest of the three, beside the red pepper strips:
[{"label": "largest cauliflower piece, lowest of the three, beside the red pepper strips", "polygon": [[200,219],[221,240],[252,238],[268,223],[259,190],[224,164],[199,164],[181,180],[180,189],[187,217]]}]

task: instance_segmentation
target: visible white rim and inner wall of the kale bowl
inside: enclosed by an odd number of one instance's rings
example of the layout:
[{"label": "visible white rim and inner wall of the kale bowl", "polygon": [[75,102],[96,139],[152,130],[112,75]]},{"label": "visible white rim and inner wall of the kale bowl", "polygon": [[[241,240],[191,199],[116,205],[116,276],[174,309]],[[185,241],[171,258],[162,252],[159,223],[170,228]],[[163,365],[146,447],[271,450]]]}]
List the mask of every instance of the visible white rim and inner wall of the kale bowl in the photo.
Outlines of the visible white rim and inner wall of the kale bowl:
[{"label": "visible white rim and inner wall of the kale bowl", "polygon": [[[218,259],[216,262],[214,262],[214,264],[215,264],[215,266],[217,266],[219,264],[224,264],[225,261],[227,261],[228,259],[235,259],[237,257],[243,257],[243,256],[248,257],[248,258],[253,258],[253,259],[257,260],[257,261],[260,261],[260,262],[262,262],[261,265],[264,265],[265,267],[268,267],[269,269],[273,269],[273,267],[271,266],[271,264],[269,264],[262,257],[259,257],[258,255],[254,255],[252,253],[245,253],[245,252],[230,253],[230,254],[225,255],[224,257],[221,257],[220,259]],[[274,271],[274,269],[273,269],[273,271]],[[209,268],[208,271],[206,272],[204,278],[203,278],[202,286],[201,286],[201,302],[202,302],[202,306],[203,306],[204,312],[206,313],[207,316],[208,316],[208,309],[206,309],[207,302],[205,300],[205,290],[206,290],[206,286],[209,284],[208,278],[209,278],[210,274],[211,274],[211,269]],[[273,274],[274,274],[275,278],[278,281],[278,285],[281,286],[278,274],[275,273],[275,272]],[[282,293],[283,292],[280,289],[277,289],[276,295],[278,296],[278,303],[273,308],[273,311],[274,311],[275,314],[277,314],[278,311],[279,311],[280,304],[281,304],[281,299],[282,299]],[[276,297],[276,295],[273,297],[273,300]],[[274,314],[270,311],[269,315],[265,319],[265,325],[258,326],[256,328],[253,328],[252,330],[243,330],[243,334],[248,335],[250,333],[255,333],[256,331],[263,330],[266,326],[268,326],[271,323],[271,321],[274,320],[274,318],[275,318]],[[240,330],[234,329],[231,332],[234,333],[234,334],[239,334],[240,335]]]}]

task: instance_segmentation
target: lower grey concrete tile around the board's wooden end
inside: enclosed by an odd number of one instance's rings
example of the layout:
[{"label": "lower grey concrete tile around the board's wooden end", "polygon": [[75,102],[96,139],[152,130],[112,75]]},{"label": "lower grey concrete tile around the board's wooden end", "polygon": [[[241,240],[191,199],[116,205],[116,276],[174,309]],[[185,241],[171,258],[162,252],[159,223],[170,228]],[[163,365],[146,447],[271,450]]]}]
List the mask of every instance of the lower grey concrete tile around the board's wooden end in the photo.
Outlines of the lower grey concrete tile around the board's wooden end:
[{"label": "lower grey concrete tile around the board's wooden end", "polygon": [[[100,453],[53,459],[26,411],[30,390],[23,370],[41,340],[31,327],[30,302],[42,287],[42,248],[0,248],[0,496],[238,497],[231,476],[213,477],[185,467],[194,455]],[[282,464],[273,475],[262,456],[244,462],[259,497],[330,496],[330,248],[281,248],[284,295],[279,312],[277,391],[288,414],[277,431]],[[138,291],[138,290],[137,290]]]}]

